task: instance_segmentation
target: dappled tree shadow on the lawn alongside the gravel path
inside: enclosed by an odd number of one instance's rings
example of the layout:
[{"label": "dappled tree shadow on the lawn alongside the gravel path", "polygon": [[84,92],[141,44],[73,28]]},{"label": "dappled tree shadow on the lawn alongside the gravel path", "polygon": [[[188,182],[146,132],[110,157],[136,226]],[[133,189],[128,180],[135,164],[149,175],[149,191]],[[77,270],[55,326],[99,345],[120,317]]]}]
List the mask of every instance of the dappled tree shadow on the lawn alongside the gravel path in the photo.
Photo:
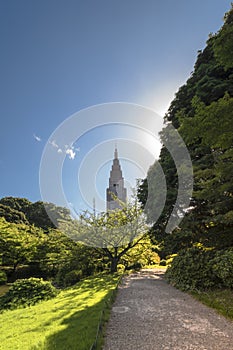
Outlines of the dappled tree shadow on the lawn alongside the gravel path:
[{"label": "dappled tree shadow on the lawn alongside the gravel path", "polygon": [[[109,291],[101,300],[97,298],[95,301],[95,295],[104,290]],[[58,299],[55,304],[54,310],[59,315],[50,318],[49,322],[47,321],[42,325],[42,327],[51,326],[53,322],[61,318],[63,321],[60,325],[64,328],[48,336],[43,346],[41,344],[33,349],[89,350],[96,338],[101,312],[109,303],[113,290],[112,277],[92,278],[83,281],[80,286],[77,285],[69,289],[67,291],[68,295],[62,297],[61,301]],[[79,291],[80,300],[77,299],[77,292]],[[82,297],[82,294],[85,293],[87,295]],[[79,310],[75,311],[75,309]],[[66,314],[69,314],[69,316],[66,317]]]}]

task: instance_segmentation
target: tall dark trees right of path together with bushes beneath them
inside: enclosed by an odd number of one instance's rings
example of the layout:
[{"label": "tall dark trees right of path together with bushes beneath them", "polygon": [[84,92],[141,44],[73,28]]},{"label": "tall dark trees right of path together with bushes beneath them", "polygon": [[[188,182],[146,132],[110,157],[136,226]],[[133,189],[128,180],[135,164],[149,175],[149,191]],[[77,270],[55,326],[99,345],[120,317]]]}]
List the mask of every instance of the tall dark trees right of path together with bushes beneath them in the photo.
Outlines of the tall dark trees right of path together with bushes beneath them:
[{"label": "tall dark trees right of path together with bushes beneath them", "polygon": [[[167,198],[150,232],[164,258],[178,254],[167,275],[183,289],[214,285],[233,287],[232,37],[233,8],[225,15],[219,32],[211,34],[205,49],[198,52],[194,71],[176,93],[161,132],[164,141],[169,137],[167,129],[172,123],[186,143],[193,164],[194,191],[190,208],[179,227],[166,233],[179,179],[174,160],[166,147],[162,147],[159,163],[166,178]],[[156,162],[138,190],[145,205],[147,183],[148,180],[152,182],[154,204],[145,208],[152,223],[153,211],[158,205],[157,167]],[[183,209],[182,206],[177,208],[173,215],[179,216]]]}]

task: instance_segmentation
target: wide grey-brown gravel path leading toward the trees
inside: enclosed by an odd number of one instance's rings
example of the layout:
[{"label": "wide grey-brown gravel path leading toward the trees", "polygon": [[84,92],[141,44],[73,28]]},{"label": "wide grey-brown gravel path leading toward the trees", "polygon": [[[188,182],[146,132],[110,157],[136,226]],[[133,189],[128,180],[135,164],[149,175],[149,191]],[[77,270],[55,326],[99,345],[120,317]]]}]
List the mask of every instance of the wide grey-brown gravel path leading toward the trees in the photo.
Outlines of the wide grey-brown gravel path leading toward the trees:
[{"label": "wide grey-brown gravel path leading toward the trees", "polygon": [[233,322],[143,270],[123,279],[104,350],[233,350]]}]

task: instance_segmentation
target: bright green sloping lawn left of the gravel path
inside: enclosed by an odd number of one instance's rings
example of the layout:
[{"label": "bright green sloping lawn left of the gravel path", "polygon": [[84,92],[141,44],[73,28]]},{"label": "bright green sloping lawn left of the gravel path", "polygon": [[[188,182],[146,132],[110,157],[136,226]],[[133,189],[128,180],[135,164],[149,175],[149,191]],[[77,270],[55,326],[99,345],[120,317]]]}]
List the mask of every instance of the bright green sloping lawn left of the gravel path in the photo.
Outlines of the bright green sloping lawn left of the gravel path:
[{"label": "bright green sloping lawn left of the gravel path", "polygon": [[[0,314],[1,350],[89,350],[119,276],[98,275],[54,299]],[[107,319],[107,313],[104,316]]]}]

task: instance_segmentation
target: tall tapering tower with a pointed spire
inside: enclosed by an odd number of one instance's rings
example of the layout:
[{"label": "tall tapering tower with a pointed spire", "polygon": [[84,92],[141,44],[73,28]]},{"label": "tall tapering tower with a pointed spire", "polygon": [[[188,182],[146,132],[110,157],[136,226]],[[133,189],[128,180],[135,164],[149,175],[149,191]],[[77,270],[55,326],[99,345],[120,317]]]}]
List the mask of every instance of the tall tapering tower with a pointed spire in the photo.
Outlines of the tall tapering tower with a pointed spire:
[{"label": "tall tapering tower with a pointed spire", "polygon": [[114,210],[121,207],[120,204],[113,199],[112,193],[117,196],[120,201],[126,202],[127,191],[124,187],[124,178],[118,159],[117,148],[115,148],[113,165],[110,171],[109,187],[106,190],[107,210]]}]

